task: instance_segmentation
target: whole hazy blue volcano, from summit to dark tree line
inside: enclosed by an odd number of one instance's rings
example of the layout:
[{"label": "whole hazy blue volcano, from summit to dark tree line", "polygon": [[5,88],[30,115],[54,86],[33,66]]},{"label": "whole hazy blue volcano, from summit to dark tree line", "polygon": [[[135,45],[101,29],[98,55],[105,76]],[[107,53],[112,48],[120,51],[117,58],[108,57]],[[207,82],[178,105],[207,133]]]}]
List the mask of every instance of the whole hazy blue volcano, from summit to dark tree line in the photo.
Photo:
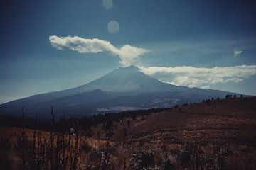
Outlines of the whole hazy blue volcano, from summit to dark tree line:
[{"label": "whole hazy blue volcano, from summit to dark tree line", "polygon": [[181,103],[193,103],[205,98],[223,98],[226,94],[228,94],[226,91],[166,84],[147,76],[137,67],[130,66],[115,69],[95,81],[73,89],[37,94],[4,103],[0,106],[0,113],[12,113],[24,106],[33,115],[33,112],[45,111],[50,106],[54,106],[59,111],[69,111],[68,114],[87,114],[86,111],[90,108],[92,114],[97,108],[169,107]]}]

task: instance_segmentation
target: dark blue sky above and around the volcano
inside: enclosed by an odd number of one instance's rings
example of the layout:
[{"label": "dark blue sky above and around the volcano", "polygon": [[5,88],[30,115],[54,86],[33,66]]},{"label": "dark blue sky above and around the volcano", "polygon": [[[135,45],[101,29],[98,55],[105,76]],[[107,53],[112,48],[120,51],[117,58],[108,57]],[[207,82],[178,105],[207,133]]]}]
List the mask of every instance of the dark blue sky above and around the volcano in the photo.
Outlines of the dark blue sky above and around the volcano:
[{"label": "dark blue sky above and around the volcano", "polygon": [[[119,56],[110,52],[58,50],[50,43],[50,35],[98,38],[117,48],[132,45],[146,49],[134,64],[172,68],[161,72],[164,78],[149,73],[162,81],[256,94],[255,67],[245,67],[247,71],[239,76],[233,69],[256,64],[255,7],[253,1],[246,0],[112,0],[109,9],[102,0],[2,0],[0,103],[79,86],[122,66]],[[107,30],[110,21],[119,23],[117,33]],[[198,79],[203,76],[188,70],[191,74],[184,77],[188,80],[181,81],[177,77],[183,74],[173,74],[174,68],[182,66],[206,67],[212,73],[214,67],[220,67],[218,73],[230,74],[202,84]]]}]

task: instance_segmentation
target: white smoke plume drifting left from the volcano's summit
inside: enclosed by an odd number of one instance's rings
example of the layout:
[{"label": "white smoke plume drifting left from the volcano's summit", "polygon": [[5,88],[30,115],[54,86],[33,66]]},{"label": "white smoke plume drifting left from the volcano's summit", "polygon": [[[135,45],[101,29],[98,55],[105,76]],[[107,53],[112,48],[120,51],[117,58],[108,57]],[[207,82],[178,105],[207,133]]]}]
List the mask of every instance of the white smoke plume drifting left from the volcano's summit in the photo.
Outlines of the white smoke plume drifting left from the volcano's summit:
[{"label": "white smoke plume drifting left from the volcano's summit", "polygon": [[139,55],[148,52],[144,48],[134,47],[132,45],[124,45],[120,48],[114,47],[109,41],[97,38],[80,38],[78,36],[58,37],[56,35],[49,36],[51,45],[58,50],[69,49],[80,53],[97,53],[109,52],[112,55],[118,55],[120,64],[127,67],[136,62]]}]

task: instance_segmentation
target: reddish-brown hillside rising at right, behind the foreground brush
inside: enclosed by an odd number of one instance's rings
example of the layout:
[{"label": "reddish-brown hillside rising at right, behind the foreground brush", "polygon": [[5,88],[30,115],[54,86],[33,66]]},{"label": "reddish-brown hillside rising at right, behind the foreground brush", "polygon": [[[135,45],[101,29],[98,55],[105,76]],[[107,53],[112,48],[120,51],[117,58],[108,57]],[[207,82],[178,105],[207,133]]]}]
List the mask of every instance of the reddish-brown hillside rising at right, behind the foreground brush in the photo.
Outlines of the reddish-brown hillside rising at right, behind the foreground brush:
[{"label": "reddish-brown hillside rising at right, behind the foreground brush", "polygon": [[[132,121],[130,140],[256,143],[256,98],[194,103]],[[118,138],[118,137],[117,137]]]}]

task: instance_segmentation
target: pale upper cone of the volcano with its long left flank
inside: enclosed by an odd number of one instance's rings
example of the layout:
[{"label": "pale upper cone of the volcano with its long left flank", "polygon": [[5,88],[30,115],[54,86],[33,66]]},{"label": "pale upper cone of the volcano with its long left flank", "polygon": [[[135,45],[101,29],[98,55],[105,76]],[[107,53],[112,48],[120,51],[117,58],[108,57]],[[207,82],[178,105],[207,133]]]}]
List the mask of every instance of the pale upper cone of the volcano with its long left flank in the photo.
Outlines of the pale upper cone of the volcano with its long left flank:
[{"label": "pale upper cone of the volcano with its long left flank", "polygon": [[26,104],[26,106],[33,106],[37,103],[44,103],[47,101],[52,101],[56,98],[81,94],[87,91],[93,91],[95,89],[114,92],[136,91],[139,93],[146,91],[174,91],[181,88],[183,87],[162,83],[157,79],[146,76],[146,74],[140,72],[137,67],[130,66],[115,69],[113,72],[105,74],[105,76],[102,76],[99,79],[91,81],[90,83],[82,86],[78,86],[72,89],[65,89],[62,91],[53,91],[46,94],[37,94],[28,98],[21,98],[16,101],[4,103],[0,108],[3,108],[3,106],[21,107],[23,104]]}]

